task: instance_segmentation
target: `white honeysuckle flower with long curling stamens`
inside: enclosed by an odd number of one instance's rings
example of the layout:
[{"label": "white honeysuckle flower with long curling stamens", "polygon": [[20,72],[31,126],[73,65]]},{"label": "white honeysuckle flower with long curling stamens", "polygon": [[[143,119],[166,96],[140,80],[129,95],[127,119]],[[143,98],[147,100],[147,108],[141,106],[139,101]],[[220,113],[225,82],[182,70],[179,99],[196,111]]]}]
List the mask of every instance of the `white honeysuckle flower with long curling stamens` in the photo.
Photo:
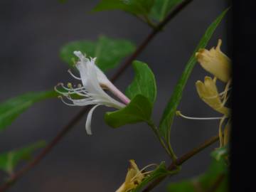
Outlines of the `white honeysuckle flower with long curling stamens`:
[{"label": "white honeysuckle flower with long curling stamens", "polygon": [[[66,105],[71,106],[86,106],[86,105],[95,105],[92,107],[90,112],[87,114],[87,120],[85,124],[85,129],[87,134],[92,134],[91,131],[91,121],[92,121],[92,112],[96,107],[100,105],[105,105],[107,107],[114,107],[116,109],[122,109],[129,103],[129,99],[120,92],[117,87],[115,87],[110,80],[107,79],[106,75],[100,70],[100,68],[95,65],[96,58],[86,58],[85,55],[82,55],[80,51],[74,51],[74,54],[78,56],[79,60],[75,64],[75,67],[79,70],[80,78],[73,75],[73,73],[68,70],[70,75],[77,80],[82,81],[82,85],[78,87],[73,87],[71,83],[68,83],[68,86],[65,87],[63,83],[58,84],[55,87],[55,91],[65,96],[70,103],[65,102],[62,97],[60,97]],[[58,86],[62,90],[58,89]],[[102,89],[102,87],[110,90],[114,95],[116,95],[122,102],[114,100],[114,98],[107,95],[107,93]],[[81,99],[75,99],[70,95],[79,95]]]}]

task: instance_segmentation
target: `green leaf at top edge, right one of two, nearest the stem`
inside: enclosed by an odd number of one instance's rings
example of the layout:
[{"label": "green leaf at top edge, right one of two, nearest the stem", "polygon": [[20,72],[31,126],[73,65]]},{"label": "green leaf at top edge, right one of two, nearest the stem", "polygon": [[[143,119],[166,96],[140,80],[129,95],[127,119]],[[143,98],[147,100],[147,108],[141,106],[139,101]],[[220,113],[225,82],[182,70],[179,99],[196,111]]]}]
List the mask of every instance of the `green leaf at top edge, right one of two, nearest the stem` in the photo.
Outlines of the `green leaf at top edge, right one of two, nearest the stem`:
[{"label": "green leaf at top edge, right one of two, nearest the stem", "polygon": [[162,21],[182,0],[155,0],[150,16],[156,21]]}]

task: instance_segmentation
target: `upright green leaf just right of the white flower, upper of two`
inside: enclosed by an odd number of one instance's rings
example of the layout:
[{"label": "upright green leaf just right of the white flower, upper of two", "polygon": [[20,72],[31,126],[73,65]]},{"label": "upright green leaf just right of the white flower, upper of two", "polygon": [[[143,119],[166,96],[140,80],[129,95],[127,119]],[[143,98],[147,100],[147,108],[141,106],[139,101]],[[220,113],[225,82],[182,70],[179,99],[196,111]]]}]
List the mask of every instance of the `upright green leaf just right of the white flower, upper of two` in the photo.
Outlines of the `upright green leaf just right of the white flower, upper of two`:
[{"label": "upright green leaf just right of the white flower, upper of two", "polygon": [[156,100],[156,80],[154,73],[146,65],[138,60],[133,63],[135,71],[135,78],[132,84],[127,87],[126,95],[132,100],[136,95],[143,95],[148,98],[149,101],[154,104]]}]

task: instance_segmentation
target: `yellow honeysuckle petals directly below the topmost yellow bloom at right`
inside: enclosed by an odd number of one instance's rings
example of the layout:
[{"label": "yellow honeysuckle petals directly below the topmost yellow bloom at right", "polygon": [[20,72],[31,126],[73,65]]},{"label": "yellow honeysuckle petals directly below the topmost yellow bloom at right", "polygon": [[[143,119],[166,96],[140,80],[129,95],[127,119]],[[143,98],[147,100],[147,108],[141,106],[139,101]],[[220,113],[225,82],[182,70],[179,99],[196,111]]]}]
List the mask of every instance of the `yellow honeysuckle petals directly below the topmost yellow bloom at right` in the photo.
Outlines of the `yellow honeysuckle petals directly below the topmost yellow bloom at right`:
[{"label": "yellow honeysuckle petals directly below the topmost yellow bloom at right", "polygon": [[198,80],[196,82],[196,90],[199,97],[206,102],[214,110],[222,113],[225,117],[230,116],[230,109],[225,107],[225,101],[222,101],[218,89],[215,84],[215,80],[206,76],[204,82]]}]

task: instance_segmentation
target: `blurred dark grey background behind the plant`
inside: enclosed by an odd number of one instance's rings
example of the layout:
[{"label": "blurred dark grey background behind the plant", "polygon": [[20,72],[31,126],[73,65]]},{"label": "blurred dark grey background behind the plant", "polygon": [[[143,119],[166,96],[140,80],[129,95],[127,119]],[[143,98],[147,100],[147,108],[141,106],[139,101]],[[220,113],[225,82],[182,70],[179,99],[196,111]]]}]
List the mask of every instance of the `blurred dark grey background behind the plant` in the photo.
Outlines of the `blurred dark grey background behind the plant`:
[{"label": "blurred dark grey background behind the plant", "polygon": [[[68,66],[58,57],[63,44],[81,39],[95,40],[100,34],[112,38],[127,38],[140,43],[149,27],[121,11],[88,14],[97,1],[9,1],[0,3],[0,101],[28,91],[48,90],[58,82],[70,81]],[[165,31],[152,41],[139,60],[149,63],[156,75],[158,96],[154,119],[159,122],[179,75],[206,27],[226,7],[223,0],[195,0],[171,21]],[[215,32],[209,46],[223,38],[225,51],[225,21]],[[113,70],[114,72],[114,70]],[[110,72],[107,75],[111,75]],[[184,114],[215,117],[196,93],[194,83],[206,75],[199,65],[193,70],[178,109]],[[129,68],[116,83],[125,90],[133,78]],[[0,135],[0,151],[30,144],[38,139],[50,141],[79,107],[68,107],[60,100],[48,100],[33,105]],[[114,191],[124,181],[129,159],[139,167],[166,160],[154,134],[145,124],[112,129],[104,124],[106,107],[99,107],[92,117],[91,137],[85,133],[86,116],[55,149],[11,188],[11,192],[34,191]],[[193,146],[218,133],[218,122],[191,121],[176,118],[172,140],[180,156]],[[194,156],[183,165],[181,174],[169,181],[178,181],[201,174],[210,162],[209,152],[215,146]],[[4,174],[0,174],[1,180]],[[163,183],[158,190],[164,191]]]}]

